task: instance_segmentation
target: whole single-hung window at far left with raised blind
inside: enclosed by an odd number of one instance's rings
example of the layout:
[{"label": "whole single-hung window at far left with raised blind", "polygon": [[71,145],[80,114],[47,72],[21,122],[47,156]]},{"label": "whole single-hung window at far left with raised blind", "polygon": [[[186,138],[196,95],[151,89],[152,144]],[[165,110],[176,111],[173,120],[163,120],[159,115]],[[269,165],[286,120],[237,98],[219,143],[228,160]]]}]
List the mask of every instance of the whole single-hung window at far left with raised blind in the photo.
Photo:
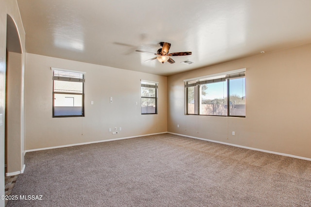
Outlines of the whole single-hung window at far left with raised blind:
[{"label": "whole single-hung window at far left with raised blind", "polygon": [[84,73],[52,70],[53,117],[84,116]]}]

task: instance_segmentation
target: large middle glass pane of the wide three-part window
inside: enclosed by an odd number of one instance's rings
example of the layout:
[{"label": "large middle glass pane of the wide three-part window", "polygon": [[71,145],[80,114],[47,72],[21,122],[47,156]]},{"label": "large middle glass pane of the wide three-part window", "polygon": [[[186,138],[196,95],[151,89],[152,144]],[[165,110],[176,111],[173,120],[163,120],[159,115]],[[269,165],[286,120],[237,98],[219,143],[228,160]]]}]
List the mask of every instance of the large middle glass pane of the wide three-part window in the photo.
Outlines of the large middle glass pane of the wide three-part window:
[{"label": "large middle glass pane of the wide three-part window", "polygon": [[208,83],[200,86],[200,114],[227,115],[227,82]]}]

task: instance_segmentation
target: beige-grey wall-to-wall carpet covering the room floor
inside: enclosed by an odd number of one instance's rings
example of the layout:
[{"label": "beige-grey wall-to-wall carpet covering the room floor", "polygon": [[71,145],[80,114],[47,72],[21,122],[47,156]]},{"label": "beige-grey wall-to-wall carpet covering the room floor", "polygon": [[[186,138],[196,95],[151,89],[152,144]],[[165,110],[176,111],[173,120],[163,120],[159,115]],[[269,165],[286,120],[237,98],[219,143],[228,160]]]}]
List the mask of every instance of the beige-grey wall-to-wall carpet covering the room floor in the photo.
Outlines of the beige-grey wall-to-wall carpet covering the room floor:
[{"label": "beige-grey wall-to-wall carpet covering the room floor", "polygon": [[311,161],[161,134],[29,152],[7,207],[311,206]]}]

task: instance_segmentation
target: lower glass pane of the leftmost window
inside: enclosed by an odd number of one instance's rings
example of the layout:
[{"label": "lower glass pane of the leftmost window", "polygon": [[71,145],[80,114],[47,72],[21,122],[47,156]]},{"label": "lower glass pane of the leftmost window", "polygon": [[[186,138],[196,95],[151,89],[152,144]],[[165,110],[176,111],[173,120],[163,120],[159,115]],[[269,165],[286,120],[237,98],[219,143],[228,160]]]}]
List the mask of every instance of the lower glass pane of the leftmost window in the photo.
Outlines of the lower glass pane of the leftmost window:
[{"label": "lower glass pane of the leftmost window", "polygon": [[79,94],[54,94],[54,116],[82,115],[82,99]]}]

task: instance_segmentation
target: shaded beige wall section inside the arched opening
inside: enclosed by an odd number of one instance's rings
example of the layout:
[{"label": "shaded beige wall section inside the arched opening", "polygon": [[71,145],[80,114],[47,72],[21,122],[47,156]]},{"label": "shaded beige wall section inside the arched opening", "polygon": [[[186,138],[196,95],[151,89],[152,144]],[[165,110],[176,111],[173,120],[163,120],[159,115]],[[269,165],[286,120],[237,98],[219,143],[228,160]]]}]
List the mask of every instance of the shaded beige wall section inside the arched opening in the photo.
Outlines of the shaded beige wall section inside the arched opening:
[{"label": "shaded beige wall section inside the arched opening", "polygon": [[8,52],[7,61],[7,105],[6,105],[6,164],[7,173],[20,171],[24,165],[24,106],[22,55]]}]

